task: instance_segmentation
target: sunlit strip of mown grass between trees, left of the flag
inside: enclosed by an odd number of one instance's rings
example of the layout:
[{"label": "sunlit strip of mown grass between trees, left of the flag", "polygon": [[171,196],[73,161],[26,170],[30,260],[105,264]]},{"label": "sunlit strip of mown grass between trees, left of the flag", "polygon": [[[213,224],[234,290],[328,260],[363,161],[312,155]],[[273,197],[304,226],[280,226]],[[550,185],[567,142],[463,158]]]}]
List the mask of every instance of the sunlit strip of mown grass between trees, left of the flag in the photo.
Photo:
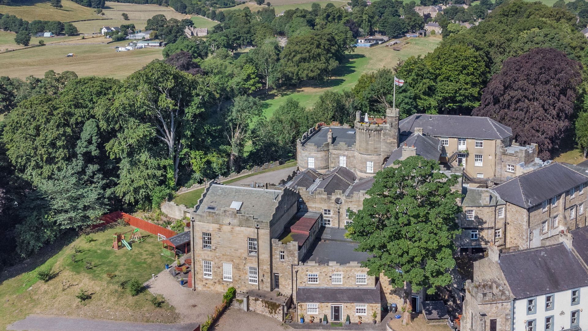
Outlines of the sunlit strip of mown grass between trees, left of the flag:
[{"label": "sunlit strip of mown grass between trees, left of the flag", "polygon": [[393,68],[401,59],[425,55],[432,52],[440,41],[440,36],[410,38],[409,44],[403,47],[402,51],[394,51],[385,45],[371,48],[358,47],[355,52],[347,55],[348,62],[337,68],[330,80],[323,83],[302,85],[298,88],[273,91],[269,98],[263,100],[264,114],[269,118],[289,97],[300,102],[303,107],[312,107],[323,92],[351,90],[365,72],[376,71],[384,67]]}]

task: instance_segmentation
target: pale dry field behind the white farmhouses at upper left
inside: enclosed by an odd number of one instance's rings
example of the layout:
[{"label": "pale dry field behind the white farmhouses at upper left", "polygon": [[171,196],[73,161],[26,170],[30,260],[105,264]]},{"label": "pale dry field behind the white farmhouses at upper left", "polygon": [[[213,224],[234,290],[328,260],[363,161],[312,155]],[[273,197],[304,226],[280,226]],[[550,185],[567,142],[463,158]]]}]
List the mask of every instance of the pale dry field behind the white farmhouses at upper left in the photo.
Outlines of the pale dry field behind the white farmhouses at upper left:
[{"label": "pale dry field behind the white farmhouses at upper left", "polygon": [[[189,15],[180,14],[170,7],[158,5],[137,5],[137,4],[123,4],[120,2],[106,1],[106,6],[103,9],[104,15],[95,15],[96,18],[110,18],[108,21],[84,21],[75,22],[74,25],[79,32],[83,34],[91,34],[99,32],[102,27],[120,27],[121,24],[135,24],[137,29],[145,29],[147,20],[155,15],[163,14],[167,19],[189,18]],[[129,15],[129,20],[122,19],[121,14]]]}]

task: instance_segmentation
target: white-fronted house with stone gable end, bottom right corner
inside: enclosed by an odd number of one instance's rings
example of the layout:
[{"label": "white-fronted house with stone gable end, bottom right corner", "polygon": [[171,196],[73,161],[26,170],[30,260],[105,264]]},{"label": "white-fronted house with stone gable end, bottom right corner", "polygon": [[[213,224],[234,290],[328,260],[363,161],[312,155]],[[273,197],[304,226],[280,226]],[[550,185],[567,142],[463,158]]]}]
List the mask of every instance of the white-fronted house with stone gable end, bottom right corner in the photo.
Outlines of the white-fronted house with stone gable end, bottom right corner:
[{"label": "white-fronted house with stone gable end, bottom right corner", "polygon": [[502,253],[491,244],[466,282],[461,330],[586,330],[588,228],[558,240]]}]

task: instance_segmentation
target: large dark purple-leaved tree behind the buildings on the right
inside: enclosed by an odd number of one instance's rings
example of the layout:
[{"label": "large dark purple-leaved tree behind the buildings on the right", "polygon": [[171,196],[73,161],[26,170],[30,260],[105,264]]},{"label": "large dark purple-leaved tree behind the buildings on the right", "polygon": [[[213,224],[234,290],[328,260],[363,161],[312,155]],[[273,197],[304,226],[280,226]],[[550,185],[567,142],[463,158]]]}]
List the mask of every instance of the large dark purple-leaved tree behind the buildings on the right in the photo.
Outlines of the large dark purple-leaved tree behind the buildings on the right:
[{"label": "large dark purple-leaved tree behind the buildings on the right", "polygon": [[537,143],[548,159],[572,127],[582,64],[553,48],[535,48],[503,62],[483,90],[472,115],[487,116],[512,128],[521,144]]}]

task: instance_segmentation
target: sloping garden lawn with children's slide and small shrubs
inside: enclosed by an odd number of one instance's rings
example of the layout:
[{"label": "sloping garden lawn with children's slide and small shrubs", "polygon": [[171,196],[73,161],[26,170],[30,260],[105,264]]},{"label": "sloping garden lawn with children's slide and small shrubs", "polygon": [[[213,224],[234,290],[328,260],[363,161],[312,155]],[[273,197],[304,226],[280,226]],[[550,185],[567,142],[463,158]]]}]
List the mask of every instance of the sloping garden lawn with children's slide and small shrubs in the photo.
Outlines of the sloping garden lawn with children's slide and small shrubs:
[{"label": "sloping garden lawn with children's slide and small shrubs", "polygon": [[[112,319],[132,322],[174,323],[179,315],[165,303],[156,308],[149,301],[153,296],[144,291],[131,296],[128,289],[118,286],[119,280],[137,279],[141,283],[158,274],[171,259],[161,255],[162,244],[157,236],[141,231],[145,241],[132,244],[132,250],[113,250],[112,235],[132,230],[122,226],[92,233],[91,242],[79,237],[32,272],[23,273],[0,284],[0,328],[5,329],[16,320],[29,314],[65,315],[95,319]],[[126,236],[128,238],[128,236]],[[74,247],[81,250],[72,255]],[[91,262],[91,269],[86,269]],[[42,282],[36,279],[36,270],[51,267],[58,275]],[[115,273],[113,279],[107,273]],[[179,285],[178,285],[179,286]],[[88,290],[92,299],[80,303],[75,295],[80,289]]]}]

